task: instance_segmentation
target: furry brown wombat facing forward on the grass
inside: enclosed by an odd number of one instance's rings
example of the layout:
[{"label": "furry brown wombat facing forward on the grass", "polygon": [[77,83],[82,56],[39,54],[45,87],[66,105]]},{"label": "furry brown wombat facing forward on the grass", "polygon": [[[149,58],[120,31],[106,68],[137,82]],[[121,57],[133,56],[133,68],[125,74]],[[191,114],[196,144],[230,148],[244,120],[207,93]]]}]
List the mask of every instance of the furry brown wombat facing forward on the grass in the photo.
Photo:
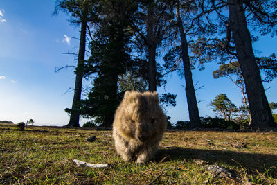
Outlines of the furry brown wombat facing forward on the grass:
[{"label": "furry brown wombat facing forward on the grass", "polygon": [[126,91],[114,117],[113,137],[125,161],[144,163],[157,151],[166,131],[166,115],[157,92]]}]

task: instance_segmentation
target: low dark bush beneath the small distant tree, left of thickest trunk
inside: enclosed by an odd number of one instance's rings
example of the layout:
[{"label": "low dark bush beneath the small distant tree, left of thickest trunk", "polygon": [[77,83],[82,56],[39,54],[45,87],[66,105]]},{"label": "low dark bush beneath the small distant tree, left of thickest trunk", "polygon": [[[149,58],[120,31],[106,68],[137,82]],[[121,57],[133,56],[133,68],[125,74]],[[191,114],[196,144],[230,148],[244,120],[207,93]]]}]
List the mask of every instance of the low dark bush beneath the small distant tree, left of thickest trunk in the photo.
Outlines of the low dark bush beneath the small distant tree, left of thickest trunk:
[{"label": "low dark bush beneath the small distant tree, left of thickest trunk", "polygon": [[201,118],[201,124],[206,128],[223,128],[227,130],[238,130],[240,125],[236,124],[234,121],[226,121],[223,118]]}]

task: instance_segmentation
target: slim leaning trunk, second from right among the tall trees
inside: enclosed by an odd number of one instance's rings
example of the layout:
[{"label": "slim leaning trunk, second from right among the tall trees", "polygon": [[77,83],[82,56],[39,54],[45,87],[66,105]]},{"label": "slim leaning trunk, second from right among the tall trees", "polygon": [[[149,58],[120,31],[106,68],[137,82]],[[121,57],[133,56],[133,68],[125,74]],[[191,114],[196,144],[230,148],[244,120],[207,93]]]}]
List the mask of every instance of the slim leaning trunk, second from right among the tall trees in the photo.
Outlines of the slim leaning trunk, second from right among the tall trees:
[{"label": "slim leaning trunk, second from right among the tall trees", "polygon": [[183,23],[180,17],[179,0],[177,0],[176,17],[177,17],[177,26],[179,28],[180,37],[181,37],[181,50],[182,50],[182,60],[184,65],[184,75],[186,80],[186,100],[188,103],[188,113],[190,116],[190,127],[192,128],[201,127],[197,100],[195,96],[195,87],[193,85],[193,75],[190,69],[190,58],[188,56],[188,42],[186,40]]}]

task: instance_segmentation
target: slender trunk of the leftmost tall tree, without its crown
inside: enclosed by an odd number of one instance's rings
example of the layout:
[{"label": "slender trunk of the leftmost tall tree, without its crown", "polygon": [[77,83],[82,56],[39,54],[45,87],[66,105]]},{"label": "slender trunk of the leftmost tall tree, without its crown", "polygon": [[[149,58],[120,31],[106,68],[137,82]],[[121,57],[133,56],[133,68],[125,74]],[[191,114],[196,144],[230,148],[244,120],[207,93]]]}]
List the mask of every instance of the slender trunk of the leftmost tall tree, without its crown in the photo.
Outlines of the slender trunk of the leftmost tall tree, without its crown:
[{"label": "slender trunk of the leftmost tall tree, without its crown", "polygon": [[75,89],[74,96],[70,114],[70,120],[68,126],[71,127],[80,127],[79,118],[80,118],[80,100],[82,94],[82,77],[84,75],[84,53],[86,49],[86,33],[87,33],[87,22],[82,21],[81,25],[81,34],[80,34],[80,44],[79,44],[79,53],[78,53],[78,62],[75,78]]}]

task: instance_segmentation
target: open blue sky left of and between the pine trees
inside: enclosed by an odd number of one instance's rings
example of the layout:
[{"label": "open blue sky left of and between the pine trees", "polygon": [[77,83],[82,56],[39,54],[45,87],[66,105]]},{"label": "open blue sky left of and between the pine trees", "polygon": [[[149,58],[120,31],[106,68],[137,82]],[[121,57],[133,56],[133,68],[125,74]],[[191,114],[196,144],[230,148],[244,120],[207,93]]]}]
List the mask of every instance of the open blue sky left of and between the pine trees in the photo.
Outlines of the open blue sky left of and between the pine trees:
[{"label": "open blue sky left of and between the pine trees", "polygon": [[[28,2],[28,3],[27,3]],[[68,51],[78,51],[78,26],[69,24],[60,12],[52,16],[55,0],[0,1],[0,120],[18,123],[30,118],[35,125],[66,125],[71,107],[75,76],[73,69],[55,73],[56,67],[73,65]],[[258,55],[276,52],[277,39],[260,37],[253,45]],[[213,116],[208,104],[217,94],[226,94],[241,105],[241,94],[228,79],[213,79],[217,64],[206,64],[204,71],[193,71],[194,82],[204,85],[197,91],[200,116]],[[168,76],[166,91],[177,94],[177,106],[166,108],[172,123],[188,120],[184,79],[176,73]],[[264,84],[269,102],[277,102],[277,81]],[[89,85],[85,82],[84,85]],[[158,89],[164,93],[163,87]],[[82,119],[80,122],[84,123]]]}]

